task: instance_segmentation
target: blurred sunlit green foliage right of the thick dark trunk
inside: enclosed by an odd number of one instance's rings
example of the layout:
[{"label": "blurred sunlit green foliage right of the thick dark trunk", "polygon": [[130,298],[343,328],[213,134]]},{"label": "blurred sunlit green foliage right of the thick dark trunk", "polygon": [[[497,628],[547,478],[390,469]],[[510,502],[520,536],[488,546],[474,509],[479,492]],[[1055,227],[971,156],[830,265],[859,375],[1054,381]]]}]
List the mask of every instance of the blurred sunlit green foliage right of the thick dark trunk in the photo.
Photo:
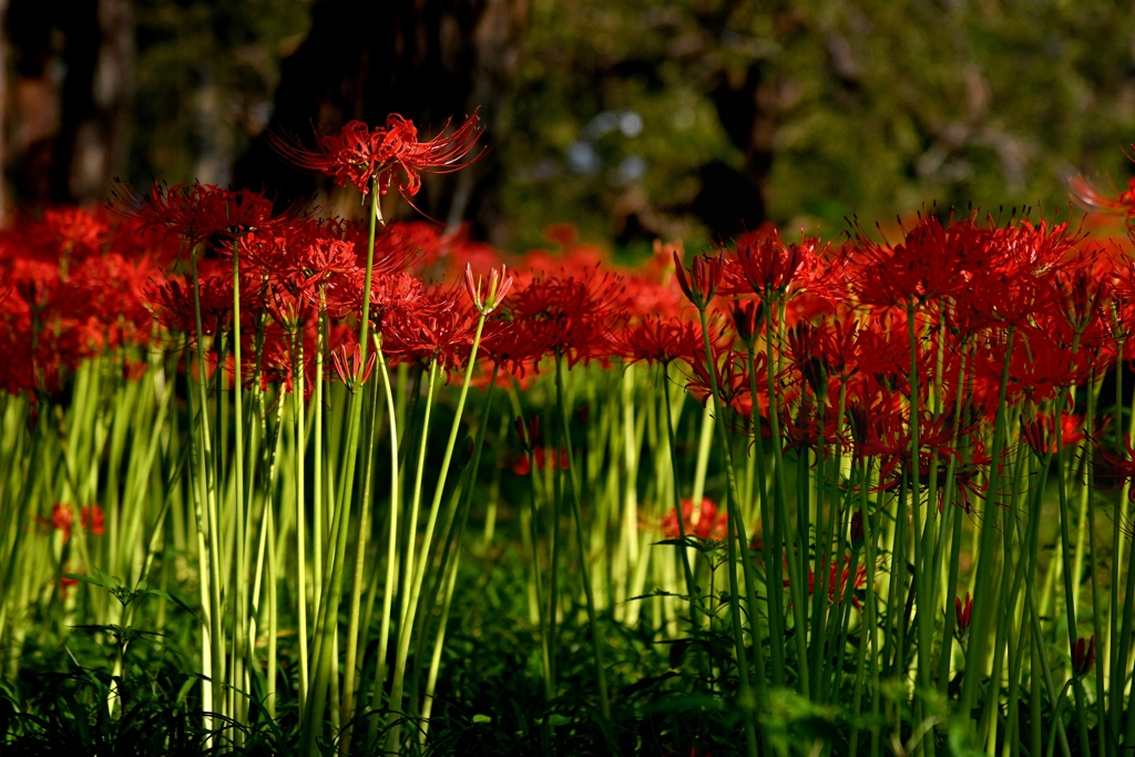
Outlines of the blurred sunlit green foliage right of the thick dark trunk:
[{"label": "blurred sunlit green foliage right of the thick dark trunk", "polygon": [[[533,0],[503,205],[518,242],[564,219],[617,235],[637,207],[696,246],[697,169],[756,148],[768,220],[825,235],[924,202],[1067,208],[1068,174],[1128,173],[1133,44],[1105,0]],[[714,91],[746,86],[757,115],[731,140]],[[602,128],[627,112],[637,136]]]}]

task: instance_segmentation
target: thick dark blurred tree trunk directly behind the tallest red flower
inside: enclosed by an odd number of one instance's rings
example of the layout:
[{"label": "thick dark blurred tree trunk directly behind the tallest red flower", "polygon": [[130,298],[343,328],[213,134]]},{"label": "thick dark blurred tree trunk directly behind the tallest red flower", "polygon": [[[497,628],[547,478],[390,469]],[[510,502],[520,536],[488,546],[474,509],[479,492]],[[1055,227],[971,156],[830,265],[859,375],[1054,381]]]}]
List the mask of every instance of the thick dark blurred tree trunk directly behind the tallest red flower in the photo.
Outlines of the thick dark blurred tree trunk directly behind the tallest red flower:
[{"label": "thick dark blurred tree trunk directly behind the tallest red flower", "polygon": [[[306,41],[283,64],[268,129],[310,144],[312,125],[335,133],[359,119],[373,127],[396,112],[413,120],[424,138],[479,107],[482,141],[491,145],[507,113],[529,0],[417,0],[381,8],[387,12],[380,23],[362,24],[356,19],[373,12],[369,3],[316,3]],[[498,217],[491,186],[499,170],[489,152],[469,170],[431,177],[414,203],[449,226],[471,220],[474,234],[491,236]],[[237,163],[236,183],[269,187],[284,202],[309,196],[317,186],[329,190],[286,166],[264,135]],[[358,205],[351,192],[329,196],[333,211],[350,212],[347,202]]]}]

